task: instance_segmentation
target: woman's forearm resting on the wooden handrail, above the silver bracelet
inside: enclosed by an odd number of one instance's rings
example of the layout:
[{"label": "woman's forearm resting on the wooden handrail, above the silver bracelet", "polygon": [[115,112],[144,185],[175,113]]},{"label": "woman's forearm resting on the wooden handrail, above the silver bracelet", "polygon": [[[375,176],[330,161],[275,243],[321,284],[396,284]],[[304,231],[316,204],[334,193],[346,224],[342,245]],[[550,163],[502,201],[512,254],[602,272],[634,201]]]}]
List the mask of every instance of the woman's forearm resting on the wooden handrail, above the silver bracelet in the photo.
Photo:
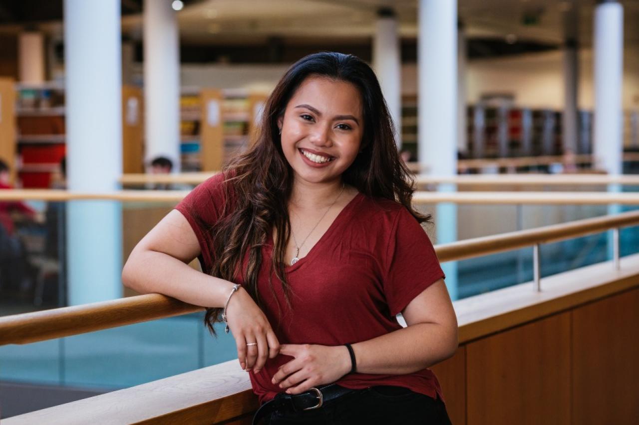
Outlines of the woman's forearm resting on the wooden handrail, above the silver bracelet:
[{"label": "woman's forearm resting on the wooden handrail, above the silver bracelet", "polygon": [[199,272],[165,253],[132,252],[122,271],[122,281],[141,294],[168,295],[203,307],[224,307],[233,283]]}]

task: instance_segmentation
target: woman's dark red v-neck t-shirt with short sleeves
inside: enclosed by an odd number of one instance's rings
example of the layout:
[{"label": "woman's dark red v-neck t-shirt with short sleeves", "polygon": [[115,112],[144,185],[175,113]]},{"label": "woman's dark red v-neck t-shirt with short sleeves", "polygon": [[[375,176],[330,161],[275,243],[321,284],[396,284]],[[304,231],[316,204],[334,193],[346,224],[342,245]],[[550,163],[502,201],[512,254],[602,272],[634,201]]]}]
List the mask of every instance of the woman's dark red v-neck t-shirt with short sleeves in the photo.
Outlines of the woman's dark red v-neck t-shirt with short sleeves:
[{"label": "woman's dark red v-neck t-shirt with short sleeves", "polygon": [[[199,260],[206,273],[213,264],[210,225],[220,219],[224,184],[222,174],[215,175],[176,206],[197,236]],[[286,267],[291,308],[271,270],[272,250],[269,237],[263,248],[258,290],[264,300],[264,313],[282,344],[343,345],[397,331],[401,329],[397,313],[444,277],[433,244],[408,210],[396,202],[362,193],[344,207],[305,257]],[[270,273],[274,294],[269,288]],[[250,372],[253,391],[261,402],[282,391],[271,384],[271,379],[277,368],[291,359],[280,354],[268,359],[259,373]],[[353,373],[337,384],[351,389],[397,385],[432,398],[438,394],[443,399],[430,369],[407,375]]]}]

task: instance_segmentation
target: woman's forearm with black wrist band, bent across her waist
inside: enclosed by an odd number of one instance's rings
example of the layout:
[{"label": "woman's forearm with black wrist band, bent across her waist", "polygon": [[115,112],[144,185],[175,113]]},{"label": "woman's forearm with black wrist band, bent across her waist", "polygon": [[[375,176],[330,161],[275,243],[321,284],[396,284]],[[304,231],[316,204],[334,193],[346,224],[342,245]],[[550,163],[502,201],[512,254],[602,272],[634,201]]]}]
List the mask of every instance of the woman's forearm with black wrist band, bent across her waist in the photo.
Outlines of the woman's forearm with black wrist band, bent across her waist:
[{"label": "woman's forearm with black wrist band, bent across her waist", "polygon": [[419,323],[352,347],[358,373],[404,375],[452,357],[458,334],[449,326]]}]

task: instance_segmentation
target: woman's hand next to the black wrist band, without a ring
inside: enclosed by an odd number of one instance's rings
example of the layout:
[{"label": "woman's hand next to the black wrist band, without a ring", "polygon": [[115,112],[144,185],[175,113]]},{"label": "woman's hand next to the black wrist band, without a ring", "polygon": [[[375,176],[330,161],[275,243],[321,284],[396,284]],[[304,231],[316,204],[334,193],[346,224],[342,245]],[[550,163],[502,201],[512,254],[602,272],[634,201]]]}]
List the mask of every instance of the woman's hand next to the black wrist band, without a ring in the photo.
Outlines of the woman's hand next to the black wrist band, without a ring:
[{"label": "woman's hand next to the black wrist band, without a ring", "polygon": [[280,366],[273,384],[287,394],[300,394],[322,384],[330,384],[351,370],[351,357],[344,345],[282,344],[280,354],[295,359]]}]

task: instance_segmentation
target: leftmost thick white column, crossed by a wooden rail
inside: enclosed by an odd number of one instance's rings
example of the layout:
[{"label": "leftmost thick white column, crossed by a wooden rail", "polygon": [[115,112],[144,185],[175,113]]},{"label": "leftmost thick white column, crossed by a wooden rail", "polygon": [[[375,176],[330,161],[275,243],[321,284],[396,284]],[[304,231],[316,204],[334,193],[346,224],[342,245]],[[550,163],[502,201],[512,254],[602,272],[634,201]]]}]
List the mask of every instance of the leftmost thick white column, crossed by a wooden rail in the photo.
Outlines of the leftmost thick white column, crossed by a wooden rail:
[{"label": "leftmost thick white column, crossed by a wooden rail", "polygon": [[[66,142],[69,190],[104,193],[122,173],[119,0],[65,0]],[[121,296],[118,202],[67,208],[70,304]]]}]

